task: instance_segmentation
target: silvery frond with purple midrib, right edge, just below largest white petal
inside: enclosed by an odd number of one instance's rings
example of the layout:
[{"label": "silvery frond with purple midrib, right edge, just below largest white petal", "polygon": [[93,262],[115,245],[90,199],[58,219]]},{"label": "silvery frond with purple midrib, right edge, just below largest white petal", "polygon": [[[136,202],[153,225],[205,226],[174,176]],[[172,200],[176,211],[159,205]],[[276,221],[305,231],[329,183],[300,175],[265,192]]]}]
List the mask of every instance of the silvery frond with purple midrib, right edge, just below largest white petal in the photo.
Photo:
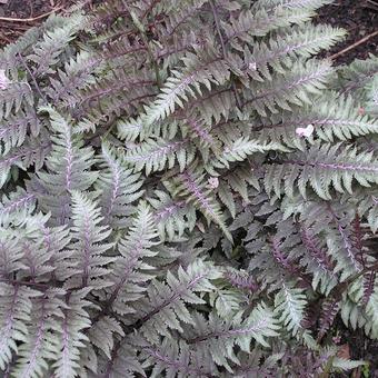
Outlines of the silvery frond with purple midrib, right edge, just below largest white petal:
[{"label": "silvery frond with purple midrib, right edge, just below largest white petal", "polygon": [[267,167],[266,189],[281,195],[282,180],[285,191],[294,196],[295,185],[300,195],[307,197],[307,186],[324,199],[331,199],[331,189],[338,192],[352,192],[352,183],[369,187],[376,183],[378,166],[371,152],[359,152],[350,147],[337,145],[315,145],[306,152],[294,153],[288,161]]}]

